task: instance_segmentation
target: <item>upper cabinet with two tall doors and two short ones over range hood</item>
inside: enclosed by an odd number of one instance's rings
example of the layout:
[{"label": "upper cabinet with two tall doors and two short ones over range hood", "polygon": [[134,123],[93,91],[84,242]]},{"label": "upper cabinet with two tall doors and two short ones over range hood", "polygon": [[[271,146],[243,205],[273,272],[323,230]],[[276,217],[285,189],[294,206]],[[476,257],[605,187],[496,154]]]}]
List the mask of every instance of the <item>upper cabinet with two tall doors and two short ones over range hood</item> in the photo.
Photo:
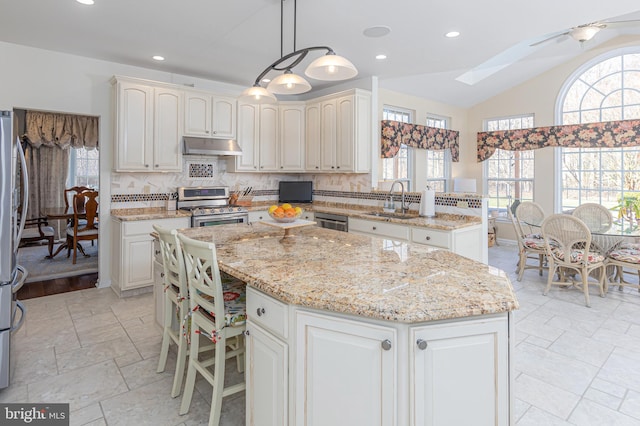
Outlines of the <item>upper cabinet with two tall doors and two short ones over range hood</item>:
[{"label": "upper cabinet with two tall doors and two short ones over range hood", "polygon": [[116,76],[117,172],[181,172],[182,137],[236,137],[233,97]]}]

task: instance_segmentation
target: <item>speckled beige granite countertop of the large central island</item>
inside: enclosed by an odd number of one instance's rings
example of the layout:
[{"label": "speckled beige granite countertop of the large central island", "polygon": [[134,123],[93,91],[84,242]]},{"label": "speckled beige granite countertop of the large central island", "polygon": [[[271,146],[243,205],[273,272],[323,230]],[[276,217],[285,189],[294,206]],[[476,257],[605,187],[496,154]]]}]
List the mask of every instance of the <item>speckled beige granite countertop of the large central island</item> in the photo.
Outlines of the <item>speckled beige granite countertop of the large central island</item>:
[{"label": "speckled beige granite countertop of the large central island", "polygon": [[262,223],[190,228],[220,269],[284,303],[419,323],[518,309],[506,274],[446,250],[317,226],[294,236]]}]

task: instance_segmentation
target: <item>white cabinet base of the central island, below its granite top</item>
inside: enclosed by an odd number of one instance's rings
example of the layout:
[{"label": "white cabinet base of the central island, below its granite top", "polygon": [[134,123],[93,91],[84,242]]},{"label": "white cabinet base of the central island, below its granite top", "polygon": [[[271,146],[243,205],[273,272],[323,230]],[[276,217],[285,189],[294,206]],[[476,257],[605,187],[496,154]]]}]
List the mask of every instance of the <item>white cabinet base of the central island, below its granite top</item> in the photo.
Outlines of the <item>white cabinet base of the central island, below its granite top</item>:
[{"label": "white cabinet base of the central island, below its granite top", "polygon": [[508,313],[404,324],[253,288],[247,312],[248,425],[510,424]]}]

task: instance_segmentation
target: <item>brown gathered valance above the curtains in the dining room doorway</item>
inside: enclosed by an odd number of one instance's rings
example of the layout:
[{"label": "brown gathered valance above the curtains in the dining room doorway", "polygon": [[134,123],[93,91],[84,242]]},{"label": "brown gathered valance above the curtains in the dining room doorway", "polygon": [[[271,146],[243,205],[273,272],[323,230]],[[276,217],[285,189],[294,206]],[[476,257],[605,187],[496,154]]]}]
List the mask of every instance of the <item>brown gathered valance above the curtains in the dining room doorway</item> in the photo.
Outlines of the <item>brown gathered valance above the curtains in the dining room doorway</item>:
[{"label": "brown gathered valance above the curtains in the dining room doorway", "polygon": [[99,117],[27,111],[25,124],[25,140],[35,148],[41,145],[63,149],[98,147]]}]

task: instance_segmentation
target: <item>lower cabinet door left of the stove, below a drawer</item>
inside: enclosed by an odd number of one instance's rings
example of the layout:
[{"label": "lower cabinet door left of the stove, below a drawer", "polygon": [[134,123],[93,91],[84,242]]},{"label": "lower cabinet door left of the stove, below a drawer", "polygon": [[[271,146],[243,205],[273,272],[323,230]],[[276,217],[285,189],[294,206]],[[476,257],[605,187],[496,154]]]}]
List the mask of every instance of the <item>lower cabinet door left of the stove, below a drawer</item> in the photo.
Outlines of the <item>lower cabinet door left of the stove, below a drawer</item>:
[{"label": "lower cabinet door left of the stove, below a drawer", "polygon": [[153,240],[151,236],[124,237],[123,264],[125,273],[121,289],[153,284]]}]

